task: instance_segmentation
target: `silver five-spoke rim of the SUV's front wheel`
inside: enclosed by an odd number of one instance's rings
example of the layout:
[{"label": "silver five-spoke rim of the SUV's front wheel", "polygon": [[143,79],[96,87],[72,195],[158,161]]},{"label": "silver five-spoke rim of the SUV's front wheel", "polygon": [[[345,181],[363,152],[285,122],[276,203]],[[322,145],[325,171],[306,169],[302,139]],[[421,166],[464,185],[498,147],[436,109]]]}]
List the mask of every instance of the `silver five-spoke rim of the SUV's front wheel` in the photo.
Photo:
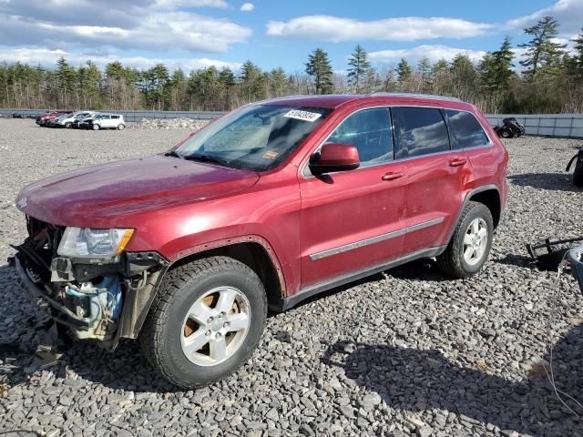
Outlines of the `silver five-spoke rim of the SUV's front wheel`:
[{"label": "silver five-spoke rim of the SUV's front wheel", "polygon": [[250,325],[251,306],[240,290],[212,289],[189,308],[180,332],[182,351],[199,366],[220,364],[239,350]]}]

